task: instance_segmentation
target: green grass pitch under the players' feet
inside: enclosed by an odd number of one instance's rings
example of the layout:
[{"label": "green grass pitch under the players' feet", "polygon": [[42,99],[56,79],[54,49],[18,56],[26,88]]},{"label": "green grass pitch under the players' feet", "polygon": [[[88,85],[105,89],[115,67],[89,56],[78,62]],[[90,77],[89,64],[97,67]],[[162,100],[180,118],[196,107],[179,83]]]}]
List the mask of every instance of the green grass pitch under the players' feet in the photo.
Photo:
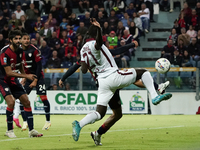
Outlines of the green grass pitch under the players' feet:
[{"label": "green grass pitch under the players' feet", "polygon": [[[78,142],[72,139],[71,123],[84,115],[52,115],[49,131],[42,131],[43,115],[34,115],[35,129],[44,134],[29,138],[28,131],[14,128],[17,136],[10,139],[6,131],[5,115],[0,115],[1,150],[199,150],[200,116],[197,115],[124,115],[108,133],[102,136],[103,146],[95,146],[90,132],[95,131],[108,118],[85,126]],[[22,124],[21,116],[20,122]]]}]

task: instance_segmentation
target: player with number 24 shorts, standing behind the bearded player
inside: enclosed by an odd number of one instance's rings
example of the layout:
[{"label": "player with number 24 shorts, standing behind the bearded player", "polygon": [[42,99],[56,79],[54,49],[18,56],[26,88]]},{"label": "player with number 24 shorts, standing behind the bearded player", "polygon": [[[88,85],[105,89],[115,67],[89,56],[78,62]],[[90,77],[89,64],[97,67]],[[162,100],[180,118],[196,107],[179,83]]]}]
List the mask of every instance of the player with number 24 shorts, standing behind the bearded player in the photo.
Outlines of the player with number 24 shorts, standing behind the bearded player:
[{"label": "player with number 24 shorts, standing behind the bearded player", "polygon": [[[24,50],[25,53],[26,64],[27,64],[25,66],[25,72],[27,74],[35,74],[37,76],[37,79],[34,79],[33,81],[24,78],[21,83],[22,85],[24,85],[27,94],[29,94],[32,91],[32,89],[36,87],[37,94],[40,96],[40,99],[44,104],[44,111],[46,115],[46,123],[42,128],[42,130],[48,130],[51,126],[50,104],[46,95],[44,73],[42,71],[42,63],[41,63],[42,60],[41,53],[34,45],[30,44],[30,37],[27,33],[22,34],[21,44],[22,44],[22,49]],[[23,107],[20,107],[20,109],[21,108],[23,110]],[[23,115],[22,118],[24,121],[26,121],[25,120],[26,118],[23,117]],[[25,127],[23,126],[22,130],[26,130],[26,126]]]}]

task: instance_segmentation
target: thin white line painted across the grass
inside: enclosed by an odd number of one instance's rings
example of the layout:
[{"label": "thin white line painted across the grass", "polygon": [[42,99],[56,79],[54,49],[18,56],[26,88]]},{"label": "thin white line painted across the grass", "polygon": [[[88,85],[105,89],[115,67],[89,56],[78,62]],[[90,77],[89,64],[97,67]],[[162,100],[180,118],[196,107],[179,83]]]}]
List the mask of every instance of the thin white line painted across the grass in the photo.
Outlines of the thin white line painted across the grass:
[{"label": "thin white line painted across the grass", "polygon": [[[168,129],[168,128],[181,128],[184,127],[184,125],[180,126],[169,126],[169,127],[156,127],[156,128],[138,128],[138,129],[123,129],[123,130],[109,130],[108,132],[121,132],[121,131],[134,131],[134,130],[155,130],[155,129]],[[81,134],[88,134],[90,132],[81,132]],[[72,135],[72,134],[60,134],[60,135],[47,135],[45,137],[56,137],[56,136],[67,136],[67,135]],[[30,139],[28,137],[26,138],[13,138],[13,139],[5,139],[5,140],[0,140],[0,142],[5,142],[5,141],[16,141],[16,140],[26,140]]]}]

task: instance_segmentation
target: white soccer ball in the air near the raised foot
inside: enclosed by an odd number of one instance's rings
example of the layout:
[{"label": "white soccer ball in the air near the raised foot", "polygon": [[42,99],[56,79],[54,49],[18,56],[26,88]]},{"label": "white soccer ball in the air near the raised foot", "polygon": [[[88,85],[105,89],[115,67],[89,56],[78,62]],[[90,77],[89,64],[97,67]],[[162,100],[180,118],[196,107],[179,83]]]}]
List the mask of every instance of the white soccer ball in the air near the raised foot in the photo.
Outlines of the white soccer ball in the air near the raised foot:
[{"label": "white soccer ball in the air near the raised foot", "polygon": [[170,70],[170,62],[166,58],[160,58],[155,63],[155,68],[158,71],[158,73],[167,73]]}]

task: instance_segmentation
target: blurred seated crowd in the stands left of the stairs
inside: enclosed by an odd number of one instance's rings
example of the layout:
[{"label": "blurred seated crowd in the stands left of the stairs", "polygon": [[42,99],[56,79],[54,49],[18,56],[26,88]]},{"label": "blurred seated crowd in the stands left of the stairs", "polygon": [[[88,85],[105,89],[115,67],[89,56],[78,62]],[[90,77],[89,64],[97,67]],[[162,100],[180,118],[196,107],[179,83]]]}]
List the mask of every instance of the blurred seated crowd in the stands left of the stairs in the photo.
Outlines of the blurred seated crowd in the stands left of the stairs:
[{"label": "blurred seated crowd in the stands left of the stairs", "polygon": [[[78,13],[73,12],[78,8]],[[80,15],[76,15],[80,14]],[[90,18],[101,24],[109,49],[139,42],[153,20],[152,0],[1,0],[0,49],[9,44],[13,29],[27,32],[41,50],[43,68],[68,68],[80,58]],[[129,67],[134,49],[115,56],[119,67]]]}]

